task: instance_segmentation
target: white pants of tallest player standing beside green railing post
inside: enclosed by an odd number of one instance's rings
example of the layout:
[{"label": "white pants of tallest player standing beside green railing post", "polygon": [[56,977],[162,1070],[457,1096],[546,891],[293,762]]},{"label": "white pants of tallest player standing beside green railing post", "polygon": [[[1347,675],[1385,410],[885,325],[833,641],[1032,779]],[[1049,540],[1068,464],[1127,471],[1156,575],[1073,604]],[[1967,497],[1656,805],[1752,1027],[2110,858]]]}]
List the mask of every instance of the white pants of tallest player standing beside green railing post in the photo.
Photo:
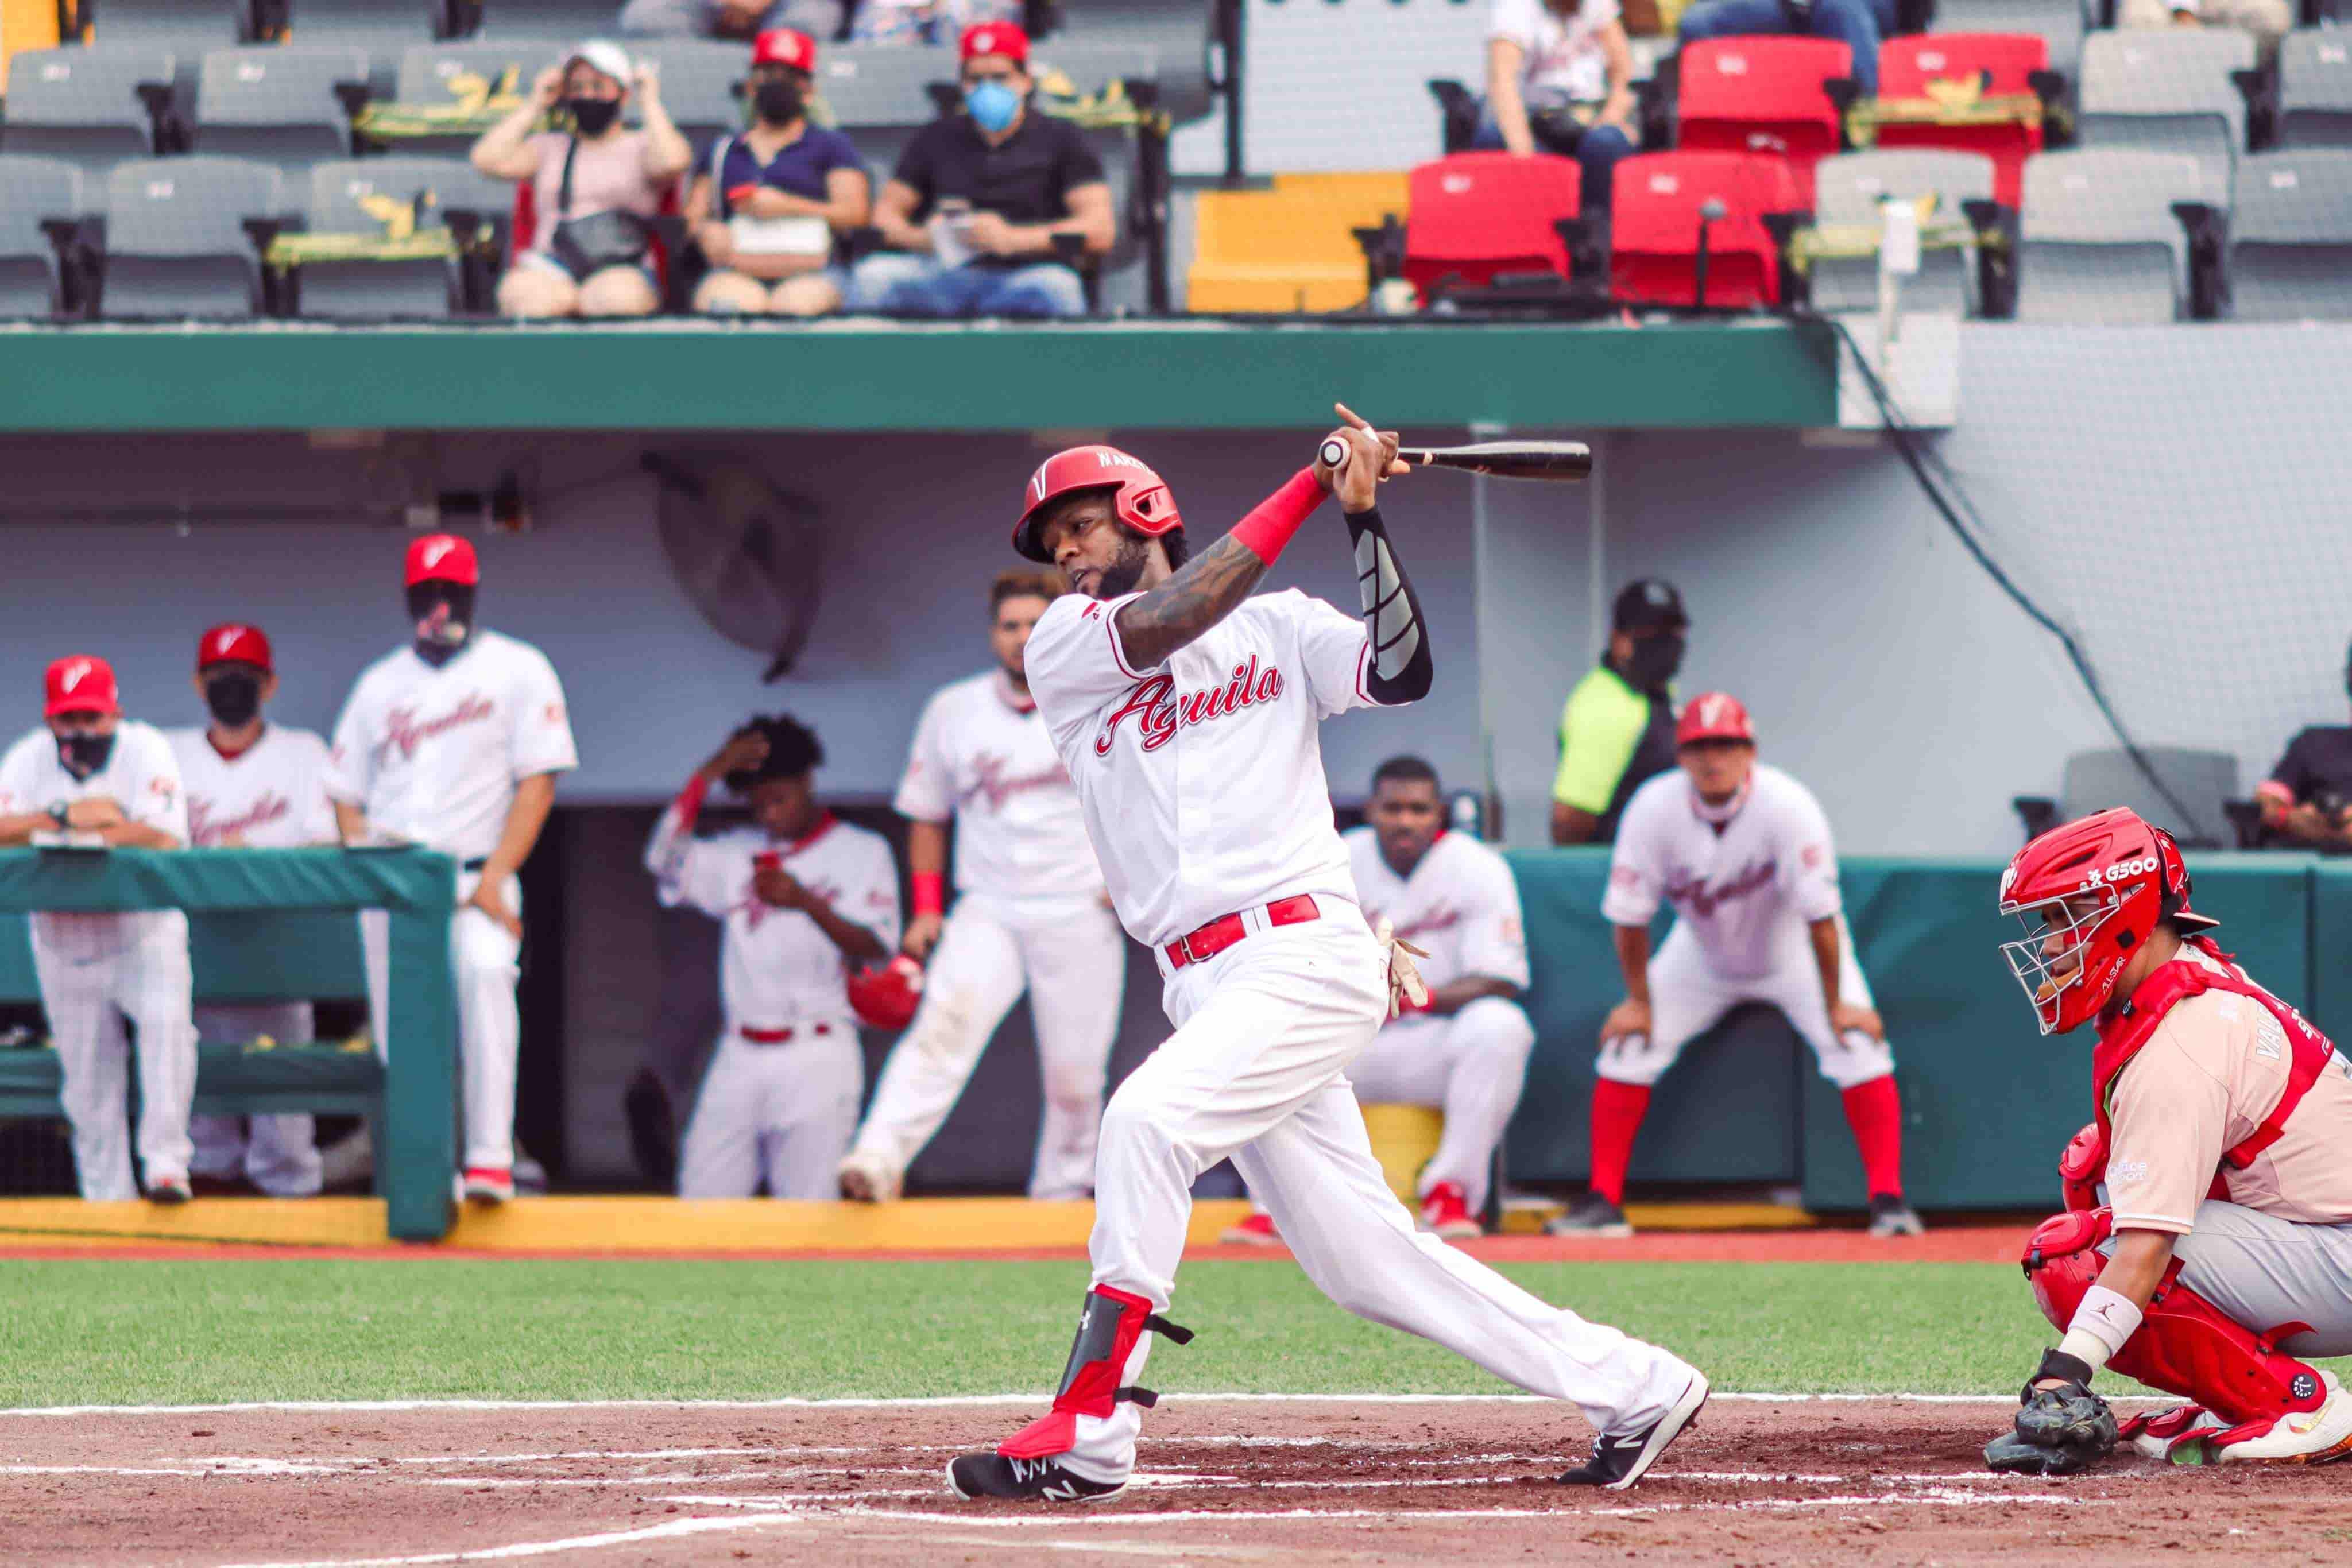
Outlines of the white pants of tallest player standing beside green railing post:
[{"label": "white pants of tallest player standing beside green railing post", "polygon": [[[456,976],[456,1065],[466,1105],[466,1168],[510,1171],[515,1166],[515,1060],[522,1056],[522,1013],[515,985],[522,980],[522,938],[499,922],[463,907],[480,882],[459,872],[461,907],[449,922],[449,969]],[[506,879],[506,907],[522,914],[522,884]],[[360,910],[360,947],[367,959],[367,1001],[376,1027],[376,1051],[390,1044],[393,922],[383,910]]]}]

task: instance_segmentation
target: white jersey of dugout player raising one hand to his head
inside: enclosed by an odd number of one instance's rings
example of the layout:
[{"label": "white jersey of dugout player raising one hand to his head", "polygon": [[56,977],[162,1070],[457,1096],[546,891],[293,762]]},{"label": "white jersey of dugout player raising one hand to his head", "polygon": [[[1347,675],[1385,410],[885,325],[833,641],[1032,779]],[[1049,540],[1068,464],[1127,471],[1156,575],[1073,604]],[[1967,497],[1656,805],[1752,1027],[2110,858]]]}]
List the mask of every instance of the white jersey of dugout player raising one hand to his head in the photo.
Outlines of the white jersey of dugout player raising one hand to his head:
[{"label": "white jersey of dugout player raising one hand to his head", "polygon": [[673,802],[644,846],[663,905],[694,905],[727,922],[720,940],[720,999],[727,1027],[783,1030],[849,1016],[849,959],[800,910],[779,910],[750,891],[755,856],[774,851],[800,886],[842,919],[898,947],[898,867],[889,839],[828,816],[800,842],[731,827],[708,839]]}]

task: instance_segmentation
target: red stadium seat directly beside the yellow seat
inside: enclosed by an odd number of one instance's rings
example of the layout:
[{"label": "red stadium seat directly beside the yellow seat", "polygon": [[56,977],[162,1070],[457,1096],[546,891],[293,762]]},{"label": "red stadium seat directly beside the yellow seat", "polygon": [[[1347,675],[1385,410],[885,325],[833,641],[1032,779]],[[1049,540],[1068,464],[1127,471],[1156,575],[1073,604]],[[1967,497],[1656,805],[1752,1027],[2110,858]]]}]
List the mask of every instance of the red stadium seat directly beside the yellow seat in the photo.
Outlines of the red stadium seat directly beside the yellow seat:
[{"label": "red stadium seat directly beside the yellow seat", "polygon": [[1414,169],[1404,219],[1404,277],[1421,296],[1444,280],[1489,284],[1496,273],[1569,275],[1552,228],[1573,219],[1583,169],[1573,158],[1454,153]]}]

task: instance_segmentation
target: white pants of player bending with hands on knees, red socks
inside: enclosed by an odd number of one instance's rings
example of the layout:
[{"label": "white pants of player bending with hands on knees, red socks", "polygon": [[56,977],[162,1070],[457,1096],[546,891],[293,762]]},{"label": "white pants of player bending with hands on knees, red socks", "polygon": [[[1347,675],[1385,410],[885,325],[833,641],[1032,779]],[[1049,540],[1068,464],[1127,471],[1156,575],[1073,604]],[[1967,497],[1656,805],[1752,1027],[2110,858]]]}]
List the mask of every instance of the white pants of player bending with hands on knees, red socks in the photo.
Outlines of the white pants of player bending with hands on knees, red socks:
[{"label": "white pants of player bending with hands on knees, red socks", "polygon": [[[1870,978],[1853,957],[1853,933],[1837,917],[1837,945],[1844,966],[1837,994],[1870,1006]],[[1893,1048],[1863,1032],[1839,1037],[1830,1027],[1830,1004],[1820,997],[1820,969],[1804,922],[1795,922],[1795,940],[1778,943],[1778,959],[1766,976],[1719,976],[1708,964],[1708,950],[1691,929],[1675,924],[1649,959],[1649,1034],[1628,1034],[1602,1046],[1599,1077],[1611,1084],[1656,1084],[1682,1058],[1682,1048],[1712,1030],[1724,1013],[1743,1001],[1769,1001],[1790,1027],[1804,1037],[1820,1063],[1820,1077],[1839,1088],[1882,1079],[1896,1070]]]}]

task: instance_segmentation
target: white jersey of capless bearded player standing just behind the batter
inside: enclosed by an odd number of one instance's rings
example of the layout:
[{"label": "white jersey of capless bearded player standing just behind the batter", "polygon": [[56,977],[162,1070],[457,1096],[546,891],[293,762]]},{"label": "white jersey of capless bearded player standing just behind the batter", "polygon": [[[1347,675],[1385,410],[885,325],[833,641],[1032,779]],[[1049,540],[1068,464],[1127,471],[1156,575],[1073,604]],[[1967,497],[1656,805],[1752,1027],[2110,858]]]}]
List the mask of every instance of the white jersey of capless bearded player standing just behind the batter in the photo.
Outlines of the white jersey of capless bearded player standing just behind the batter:
[{"label": "white jersey of capless bearded player standing just behind the batter", "polygon": [[1077,788],[1037,703],[1002,670],[941,686],[915,726],[901,816],[955,818],[955,886],[995,898],[1098,898],[1103,870],[1077,827]]}]

